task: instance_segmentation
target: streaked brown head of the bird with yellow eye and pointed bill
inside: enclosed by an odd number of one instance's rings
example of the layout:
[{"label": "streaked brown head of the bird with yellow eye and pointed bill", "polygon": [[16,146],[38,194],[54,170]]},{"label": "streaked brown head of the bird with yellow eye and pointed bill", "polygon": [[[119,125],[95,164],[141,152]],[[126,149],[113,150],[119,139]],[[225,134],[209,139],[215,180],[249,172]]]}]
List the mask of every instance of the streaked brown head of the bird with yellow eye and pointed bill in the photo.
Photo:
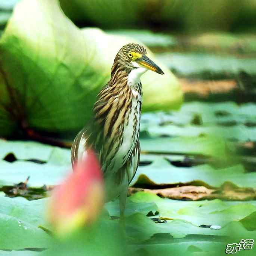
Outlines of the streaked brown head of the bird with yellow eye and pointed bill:
[{"label": "streaked brown head of the bird with yellow eye and pointed bill", "polygon": [[116,70],[125,70],[128,74],[136,70],[139,76],[147,70],[164,74],[161,68],[148,58],[145,47],[134,43],[126,44],[119,50],[112,66],[112,75]]}]

